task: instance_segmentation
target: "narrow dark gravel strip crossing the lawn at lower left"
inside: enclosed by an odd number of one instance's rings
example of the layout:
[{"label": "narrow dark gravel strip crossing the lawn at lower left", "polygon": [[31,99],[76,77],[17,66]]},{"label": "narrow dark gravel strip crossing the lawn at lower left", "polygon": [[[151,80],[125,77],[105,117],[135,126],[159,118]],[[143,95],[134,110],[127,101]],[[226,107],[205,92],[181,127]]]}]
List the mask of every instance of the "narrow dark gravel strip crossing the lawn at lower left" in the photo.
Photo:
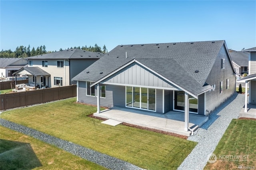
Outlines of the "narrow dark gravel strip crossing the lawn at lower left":
[{"label": "narrow dark gravel strip crossing the lawn at lower left", "polygon": [[66,140],[62,140],[60,138],[56,138],[38,130],[28,128],[4,119],[0,119],[0,125],[15,130],[17,132],[32,136],[38,140],[54,145],[62,150],[70,152],[71,154],[79,156],[80,158],[84,158],[111,170],[143,170],[142,168],[139,168],[138,166],[130,164],[129,162],[126,162],[124,160],[102,154],[95,150],[80,146],[78,144],[74,144]]}]

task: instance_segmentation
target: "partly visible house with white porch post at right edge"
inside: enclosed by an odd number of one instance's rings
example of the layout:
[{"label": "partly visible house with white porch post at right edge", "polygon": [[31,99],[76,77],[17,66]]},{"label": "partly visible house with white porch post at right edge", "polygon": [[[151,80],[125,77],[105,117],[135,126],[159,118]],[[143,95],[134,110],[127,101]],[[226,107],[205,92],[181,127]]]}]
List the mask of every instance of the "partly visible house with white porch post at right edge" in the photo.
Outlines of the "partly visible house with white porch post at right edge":
[{"label": "partly visible house with white porch post at right edge", "polygon": [[[245,95],[244,112],[248,111],[248,103],[256,105],[256,47],[245,49],[243,51],[250,52],[249,55],[249,74],[246,77],[238,80],[238,82],[245,81],[245,94],[247,94],[247,87],[249,83],[249,102],[247,95]],[[256,111],[256,110],[255,110]]]}]

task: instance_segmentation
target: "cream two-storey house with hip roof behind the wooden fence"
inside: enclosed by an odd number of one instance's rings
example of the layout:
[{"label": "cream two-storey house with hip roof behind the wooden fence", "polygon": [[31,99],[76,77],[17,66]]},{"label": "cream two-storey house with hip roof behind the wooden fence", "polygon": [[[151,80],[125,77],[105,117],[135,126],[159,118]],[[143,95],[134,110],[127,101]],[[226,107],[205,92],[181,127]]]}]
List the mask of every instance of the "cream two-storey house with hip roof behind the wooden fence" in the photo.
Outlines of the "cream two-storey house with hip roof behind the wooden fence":
[{"label": "cream two-storey house with hip roof behind the wooden fence", "polygon": [[28,83],[58,87],[76,84],[72,81],[75,75],[97,61],[104,54],[84,51],[82,49],[65,49],[53,53],[26,58],[28,67],[24,67],[15,74],[28,75]]}]

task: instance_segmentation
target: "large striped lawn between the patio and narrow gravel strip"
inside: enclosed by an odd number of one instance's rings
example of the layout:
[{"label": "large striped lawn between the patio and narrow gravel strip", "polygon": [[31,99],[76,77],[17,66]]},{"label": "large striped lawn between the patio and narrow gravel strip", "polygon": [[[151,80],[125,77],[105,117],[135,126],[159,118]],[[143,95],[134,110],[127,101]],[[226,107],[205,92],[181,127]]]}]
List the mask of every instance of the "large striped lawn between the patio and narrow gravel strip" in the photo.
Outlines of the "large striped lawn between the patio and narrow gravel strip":
[{"label": "large striped lawn between the patio and narrow gravel strip", "polygon": [[148,130],[112,127],[87,117],[96,107],[67,99],[3,112],[0,117],[146,169],[177,169],[196,142]]}]

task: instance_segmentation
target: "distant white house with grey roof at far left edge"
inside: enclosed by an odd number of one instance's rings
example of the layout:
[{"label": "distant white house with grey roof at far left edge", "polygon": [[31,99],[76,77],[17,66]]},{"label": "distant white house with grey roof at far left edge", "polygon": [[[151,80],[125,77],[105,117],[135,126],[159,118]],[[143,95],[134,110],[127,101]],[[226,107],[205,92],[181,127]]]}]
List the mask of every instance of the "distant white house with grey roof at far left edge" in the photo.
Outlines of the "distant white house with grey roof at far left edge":
[{"label": "distant white house with grey roof at far left edge", "polygon": [[0,58],[0,77],[11,77],[12,73],[26,66],[28,61],[24,58]]}]

